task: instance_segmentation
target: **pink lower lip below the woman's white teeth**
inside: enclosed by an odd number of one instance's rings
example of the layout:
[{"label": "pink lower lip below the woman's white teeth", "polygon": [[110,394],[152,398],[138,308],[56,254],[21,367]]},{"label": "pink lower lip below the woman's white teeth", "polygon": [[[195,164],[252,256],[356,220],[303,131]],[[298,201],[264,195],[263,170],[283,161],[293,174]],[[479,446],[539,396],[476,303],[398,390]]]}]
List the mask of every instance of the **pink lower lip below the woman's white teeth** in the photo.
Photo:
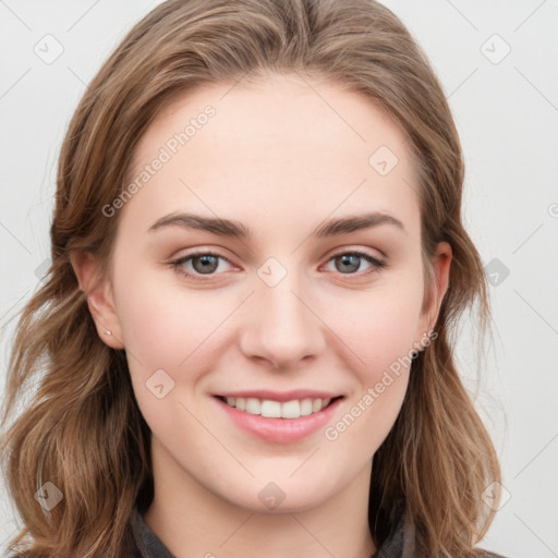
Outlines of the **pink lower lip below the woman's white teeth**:
[{"label": "pink lower lip below the woman's white teeth", "polygon": [[326,425],[342,402],[342,398],[337,399],[322,411],[301,416],[300,418],[269,418],[259,414],[239,411],[217,397],[214,397],[214,399],[228,413],[236,426],[258,438],[275,444],[290,444],[314,434]]}]

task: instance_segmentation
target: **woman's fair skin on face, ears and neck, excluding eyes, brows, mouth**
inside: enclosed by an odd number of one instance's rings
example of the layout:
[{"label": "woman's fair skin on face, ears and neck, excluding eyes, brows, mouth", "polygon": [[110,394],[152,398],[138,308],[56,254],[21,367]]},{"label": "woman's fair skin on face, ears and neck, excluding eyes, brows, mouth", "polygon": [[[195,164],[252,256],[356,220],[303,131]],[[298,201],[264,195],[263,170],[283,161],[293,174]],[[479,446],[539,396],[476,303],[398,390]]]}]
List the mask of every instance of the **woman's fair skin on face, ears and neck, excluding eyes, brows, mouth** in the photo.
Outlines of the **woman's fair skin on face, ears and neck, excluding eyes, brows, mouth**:
[{"label": "woman's fair skin on face, ears and neck, excluding eyes, brows, mouth", "polygon": [[[94,258],[74,263],[99,336],[126,350],[153,430],[155,500],[146,523],[179,558],[369,557],[372,458],[400,411],[409,366],[336,440],[323,428],[292,444],[262,440],[236,427],[213,395],[331,390],[344,396],[335,425],[424,342],[448,286],[451,248],[438,246],[424,306],[418,186],[405,135],[365,97],[316,78],[270,75],[190,93],[141,138],[132,177],[207,105],[215,116],[113,217],[110,272],[94,281]],[[399,159],[386,175],[368,163],[380,146]],[[374,210],[404,230],[312,235],[325,219]],[[234,219],[254,238],[178,226],[148,232],[175,211]],[[187,278],[169,262],[193,248],[226,259],[213,275]],[[355,271],[336,265],[333,256],[351,250],[387,267],[366,275],[374,267],[363,258]],[[287,271],[274,287],[257,274],[269,257]],[[182,268],[196,274],[203,266],[194,264]],[[174,381],[162,399],[146,387],[158,369]],[[270,482],[284,493],[272,510],[258,497]]]}]

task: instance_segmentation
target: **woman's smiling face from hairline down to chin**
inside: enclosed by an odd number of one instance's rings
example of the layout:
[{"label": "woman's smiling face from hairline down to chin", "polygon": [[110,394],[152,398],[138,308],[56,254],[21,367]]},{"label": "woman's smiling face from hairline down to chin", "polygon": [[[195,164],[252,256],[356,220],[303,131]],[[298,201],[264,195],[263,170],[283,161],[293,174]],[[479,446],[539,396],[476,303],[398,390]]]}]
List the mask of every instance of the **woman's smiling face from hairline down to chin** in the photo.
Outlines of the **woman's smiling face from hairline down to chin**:
[{"label": "woman's smiling face from hairline down to chin", "polygon": [[404,134],[316,80],[211,85],[158,116],[134,181],[105,209],[98,323],[126,350],[156,475],[252,510],[369,478],[437,312]]}]

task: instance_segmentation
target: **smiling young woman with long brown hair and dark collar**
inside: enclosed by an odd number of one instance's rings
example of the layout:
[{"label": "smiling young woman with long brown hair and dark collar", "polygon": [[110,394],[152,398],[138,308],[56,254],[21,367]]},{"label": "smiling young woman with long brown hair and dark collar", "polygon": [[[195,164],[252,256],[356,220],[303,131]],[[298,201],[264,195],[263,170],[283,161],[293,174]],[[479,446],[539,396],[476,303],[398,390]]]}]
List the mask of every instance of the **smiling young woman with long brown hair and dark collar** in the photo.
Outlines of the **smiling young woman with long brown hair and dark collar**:
[{"label": "smiling young woman with long brown hair and dark collar", "polygon": [[[444,92],[369,0],[170,0],[89,84],[23,312],[29,557],[487,556],[480,302]],[[494,555],[493,555],[494,556]]]}]

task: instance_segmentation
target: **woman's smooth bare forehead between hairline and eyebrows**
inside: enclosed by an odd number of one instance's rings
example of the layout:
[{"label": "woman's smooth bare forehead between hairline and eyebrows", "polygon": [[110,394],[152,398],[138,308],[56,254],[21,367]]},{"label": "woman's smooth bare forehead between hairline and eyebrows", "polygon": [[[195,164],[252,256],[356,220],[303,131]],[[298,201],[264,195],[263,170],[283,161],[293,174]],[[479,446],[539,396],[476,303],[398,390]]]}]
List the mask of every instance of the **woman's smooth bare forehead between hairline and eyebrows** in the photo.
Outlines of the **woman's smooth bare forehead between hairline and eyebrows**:
[{"label": "woman's smooth bare forehead between hairline and eyebrows", "polygon": [[129,182],[156,159],[165,162],[124,207],[142,209],[144,226],[186,209],[315,226],[363,208],[417,226],[405,134],[371,99],[324,80],[270,75],[189,92],[145,132]]}]

